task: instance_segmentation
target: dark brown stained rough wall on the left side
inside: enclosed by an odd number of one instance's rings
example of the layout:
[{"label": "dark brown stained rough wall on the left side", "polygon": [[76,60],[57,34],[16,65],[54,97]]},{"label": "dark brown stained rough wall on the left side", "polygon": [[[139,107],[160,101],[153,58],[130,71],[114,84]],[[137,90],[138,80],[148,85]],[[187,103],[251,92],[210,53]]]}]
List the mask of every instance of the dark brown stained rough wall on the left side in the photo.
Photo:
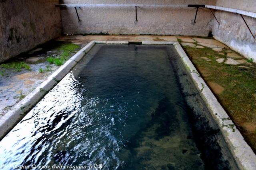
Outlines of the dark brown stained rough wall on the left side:
[{"label": "dark brown stained rough wall on the left side", "polygon": [[59,0],[0,0],[0,62],[62,33]]}]

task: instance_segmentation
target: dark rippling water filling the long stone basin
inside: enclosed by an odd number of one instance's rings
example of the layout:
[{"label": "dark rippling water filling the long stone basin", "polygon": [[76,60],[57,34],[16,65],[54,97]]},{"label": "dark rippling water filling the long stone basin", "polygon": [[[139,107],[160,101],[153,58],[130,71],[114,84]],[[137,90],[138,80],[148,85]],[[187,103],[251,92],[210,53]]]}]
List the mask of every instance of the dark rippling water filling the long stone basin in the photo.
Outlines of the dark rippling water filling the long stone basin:
[{"label": "dark rippling water filling the long stone basin", "polygon": [[172,48],[94,46],[2,139],[0,164],[204,169]]}]

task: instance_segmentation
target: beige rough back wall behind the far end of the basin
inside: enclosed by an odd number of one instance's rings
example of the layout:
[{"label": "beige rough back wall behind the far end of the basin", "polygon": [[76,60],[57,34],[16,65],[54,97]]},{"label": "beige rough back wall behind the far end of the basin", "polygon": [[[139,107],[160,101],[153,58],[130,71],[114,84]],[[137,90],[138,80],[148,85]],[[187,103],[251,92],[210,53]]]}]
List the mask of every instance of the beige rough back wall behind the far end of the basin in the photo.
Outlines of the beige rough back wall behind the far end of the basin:
[{"label": "beige rough back wall behind the far end of the basin", "polygon": [[[210,4],[216,0],[62,0],[61,4]],[[201,35],[212,31],[212,18],[208,9],[138,7],[81,7],[80,20],[74,8],[61,10],[64,34],[156,34]]]}]

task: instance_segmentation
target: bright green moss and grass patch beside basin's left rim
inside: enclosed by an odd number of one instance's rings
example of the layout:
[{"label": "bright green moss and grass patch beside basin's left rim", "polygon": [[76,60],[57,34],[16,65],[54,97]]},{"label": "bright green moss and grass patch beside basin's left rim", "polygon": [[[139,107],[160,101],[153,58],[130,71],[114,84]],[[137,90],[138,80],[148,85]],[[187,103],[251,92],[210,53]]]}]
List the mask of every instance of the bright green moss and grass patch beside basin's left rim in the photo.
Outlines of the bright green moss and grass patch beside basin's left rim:
[{"label": "bright green moss and grass patch beside basin's left rim", "polygon": [[64,43],[59,47],[57,47],[57,51],[58,53],[60,53],[60,55],[56,57],[48,57],[46,58],[46,61],[48,61],[50,64],[55,64],[56,66],[60,66],[64,64],[69,59],[71,53],[73,53],[79,47],[80,47],[79,45]]}]

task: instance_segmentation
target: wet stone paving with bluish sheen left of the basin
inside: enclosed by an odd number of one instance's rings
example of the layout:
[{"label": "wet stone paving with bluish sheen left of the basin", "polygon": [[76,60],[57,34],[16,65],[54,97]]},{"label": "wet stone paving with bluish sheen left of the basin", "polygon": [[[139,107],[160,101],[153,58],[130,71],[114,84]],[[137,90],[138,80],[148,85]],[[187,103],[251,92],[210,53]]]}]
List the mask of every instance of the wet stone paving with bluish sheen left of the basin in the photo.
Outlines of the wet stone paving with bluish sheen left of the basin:
[{"label": "wet stone paving with bluish sheen left of the basin", "polygon": [[[61,47],[64,44],[61,41],[50,41],[0,64],[0,116],[4,115],[60,67],[49,63],[46,58],[61,55],[63,52]],[[73,54],[70,54],[69,57]],[[25,63],[28,68],[20,70],[11,68],[12,63],[20,62]]]}]

